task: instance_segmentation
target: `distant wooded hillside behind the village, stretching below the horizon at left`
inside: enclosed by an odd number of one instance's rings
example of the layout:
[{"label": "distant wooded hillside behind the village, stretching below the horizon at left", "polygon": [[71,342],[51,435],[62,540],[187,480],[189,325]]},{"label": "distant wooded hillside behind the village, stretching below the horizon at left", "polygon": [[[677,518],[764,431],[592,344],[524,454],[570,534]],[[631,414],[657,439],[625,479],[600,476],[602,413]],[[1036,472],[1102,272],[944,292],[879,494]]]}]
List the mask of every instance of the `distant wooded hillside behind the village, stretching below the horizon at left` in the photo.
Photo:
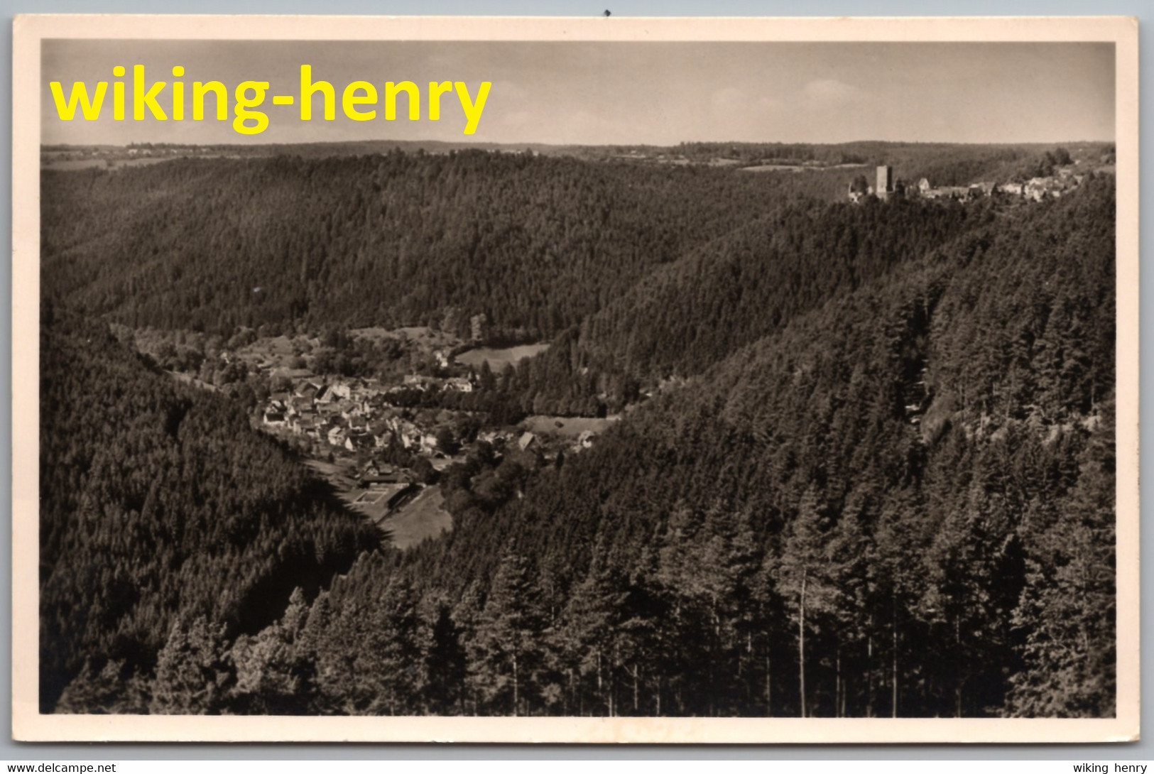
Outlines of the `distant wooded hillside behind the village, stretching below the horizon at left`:
[{"label": "distant wooded hillside behind the village, stretching below the horizon at left", "polygon": [[479,151],[45,172],[45,290],[133,328],[535,340],[822,180]]}]

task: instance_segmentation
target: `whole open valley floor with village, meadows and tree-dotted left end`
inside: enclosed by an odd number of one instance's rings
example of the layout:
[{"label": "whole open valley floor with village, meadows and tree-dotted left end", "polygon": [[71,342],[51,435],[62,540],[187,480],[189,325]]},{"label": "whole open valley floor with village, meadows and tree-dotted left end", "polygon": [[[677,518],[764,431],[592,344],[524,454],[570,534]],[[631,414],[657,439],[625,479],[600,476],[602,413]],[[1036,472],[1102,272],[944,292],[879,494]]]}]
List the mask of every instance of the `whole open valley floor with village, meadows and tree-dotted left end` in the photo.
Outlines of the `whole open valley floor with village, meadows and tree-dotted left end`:
[{"label": "whole open valley floor with village, meadows and tree-dotted left end", "polygon": [[[547,345],[481,346],[484,315],[471,323],[472,338],[464,340],[429,326],[354,329],[328,340],[264,330],[228,341],[119,332],[174,378],[241,398],[253,427],[294,451],[351,510],[406,548],[451,528],[437,481],[455,463],[479,458],[497,474],[505,461],[520,471],[557,464],[592,448],[617,419],[530,415],[494,423],[470,398]],[[355,351],[392,359],[392,368],[343,374],[349,363],[342,359]]]}]

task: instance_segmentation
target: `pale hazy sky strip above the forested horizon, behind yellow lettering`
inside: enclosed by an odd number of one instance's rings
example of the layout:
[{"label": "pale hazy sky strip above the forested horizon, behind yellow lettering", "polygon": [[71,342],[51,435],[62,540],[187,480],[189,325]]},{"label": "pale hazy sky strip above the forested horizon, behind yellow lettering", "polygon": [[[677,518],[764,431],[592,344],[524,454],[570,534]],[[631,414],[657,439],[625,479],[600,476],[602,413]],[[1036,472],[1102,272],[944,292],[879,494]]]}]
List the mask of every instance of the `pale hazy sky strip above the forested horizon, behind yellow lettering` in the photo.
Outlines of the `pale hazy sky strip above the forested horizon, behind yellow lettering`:
[{"label": "pale hazy sky strip above the forested horizon, behind yellow lettering", "polygon": [[[50,39],[42,48],[45,143],[293,143],[441,140],[496,143],[658,144],[680,142],[1074,142],[1115,137],[1114,45],[1106,43],[730,43],[730,42],[292,42]],[[300,65],[337,90],[337,119],[301,121]],[[112,68],[128,68],[123,78]],[[60,120],[48,83],[125,81],[143,65],[145,81],[193,81],[232,89],[268,81],[260,108],[269,127],[241,135],[228,120],[115,121],[108,104],[95,121]],[[475,134],[454,93],[430,121],[383,111],[345,118],[343,88],[368,81],[462,81],[475,97],[492,82]],[[157,103],[170,112],[172,87]],[[211,100],[210,100],[211,103]],[[367,110],[367,108],[362,108]],[[208,114],[213,115],[211,108]],[[78,115],[78,114],[77,114]]]}]

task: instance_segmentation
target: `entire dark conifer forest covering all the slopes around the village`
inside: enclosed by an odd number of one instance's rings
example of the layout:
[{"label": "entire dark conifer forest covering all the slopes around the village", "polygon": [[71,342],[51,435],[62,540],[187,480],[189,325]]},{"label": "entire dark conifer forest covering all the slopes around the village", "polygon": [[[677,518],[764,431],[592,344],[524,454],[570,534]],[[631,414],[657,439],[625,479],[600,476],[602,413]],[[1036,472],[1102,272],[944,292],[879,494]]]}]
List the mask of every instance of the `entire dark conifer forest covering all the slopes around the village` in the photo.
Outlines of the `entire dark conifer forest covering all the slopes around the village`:
[{"label": "entire dark conifer forest covering all the slopes around the village", "polygon": [[[42,707],[1112,715],[1114,179],[853,205],[857,172],[46,172]],[[457,407],[623,418],[578,454],[474,444],[406,551],[108,332],[481,313],[552,345]]]}]

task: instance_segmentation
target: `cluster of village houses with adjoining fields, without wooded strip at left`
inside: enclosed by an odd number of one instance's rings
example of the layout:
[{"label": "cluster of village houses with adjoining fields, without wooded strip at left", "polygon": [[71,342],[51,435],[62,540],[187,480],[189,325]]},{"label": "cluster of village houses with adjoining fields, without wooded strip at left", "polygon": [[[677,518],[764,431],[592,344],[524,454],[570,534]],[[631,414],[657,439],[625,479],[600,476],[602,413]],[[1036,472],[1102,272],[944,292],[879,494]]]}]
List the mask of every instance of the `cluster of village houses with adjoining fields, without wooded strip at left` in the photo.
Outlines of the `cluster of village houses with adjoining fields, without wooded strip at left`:
[{"label": "cluster of village houses with adjoining fields, without wooded strip at left", "polygon": [[[429,337],[409,329],[412,339]],[[279,389],[260,407],[257,427],[301,450],[350,508],[404,548],[451,527],[439,475],[470,454],[532,469],[593,445],[608,419],[530,416],[487,427],[480,412],[448,408],[544,346],[490,350],[467,344],[428,352],[427,373],[399,380],[314,374],[258,362]],[[475,363],[480,362],[480,367]]]}]

